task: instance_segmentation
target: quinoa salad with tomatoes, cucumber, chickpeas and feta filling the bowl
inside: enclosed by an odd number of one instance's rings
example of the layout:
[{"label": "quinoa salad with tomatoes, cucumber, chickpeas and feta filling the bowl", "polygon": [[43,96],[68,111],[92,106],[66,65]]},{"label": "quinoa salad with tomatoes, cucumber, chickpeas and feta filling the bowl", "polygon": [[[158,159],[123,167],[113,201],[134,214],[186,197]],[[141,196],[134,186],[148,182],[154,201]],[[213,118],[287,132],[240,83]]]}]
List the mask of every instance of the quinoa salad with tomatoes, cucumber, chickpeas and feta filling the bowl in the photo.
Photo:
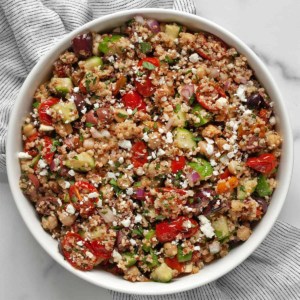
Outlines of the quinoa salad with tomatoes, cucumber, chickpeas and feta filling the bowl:
[{"label": "quinoa salad with tomatoes, cucumber, chickpeas and feta filling the bowl", "polygon": [[282,138],[247,58],[142,16],[86,32],[22,127],[20,187],[74,268],[170,282],[246,241]]}]

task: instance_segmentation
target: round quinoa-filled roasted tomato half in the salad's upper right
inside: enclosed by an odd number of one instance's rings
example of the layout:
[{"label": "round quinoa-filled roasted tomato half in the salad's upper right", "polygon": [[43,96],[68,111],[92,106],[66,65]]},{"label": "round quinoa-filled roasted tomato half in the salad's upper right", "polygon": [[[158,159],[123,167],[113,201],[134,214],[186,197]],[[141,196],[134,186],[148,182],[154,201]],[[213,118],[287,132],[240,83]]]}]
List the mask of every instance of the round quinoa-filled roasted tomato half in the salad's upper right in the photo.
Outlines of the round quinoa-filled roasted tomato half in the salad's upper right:
[{"label": "round quinoa-filled roasted tomato half in the salad's upper right", "polygon": [[226,97],[225,92],[214,83],[209,83],[208,86],[205,86],[205,89],[199,85],[196,91],[196,99],[199,104],[209,111],[218,110],[215,102],[220,97]]}]

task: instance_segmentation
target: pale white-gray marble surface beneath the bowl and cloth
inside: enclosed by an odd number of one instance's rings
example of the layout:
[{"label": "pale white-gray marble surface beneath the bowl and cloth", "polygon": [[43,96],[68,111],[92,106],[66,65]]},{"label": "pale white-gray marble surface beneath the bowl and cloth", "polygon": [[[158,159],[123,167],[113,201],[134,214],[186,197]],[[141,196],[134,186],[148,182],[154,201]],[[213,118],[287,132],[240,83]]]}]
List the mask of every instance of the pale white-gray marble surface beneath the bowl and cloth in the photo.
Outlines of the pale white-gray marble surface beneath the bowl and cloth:
[{"label": "pale white-gray marble surface beneath the bowl and cloth", "polygon": [[[267,64],[290,113],[295,153],[300,151],[300,2],[297,0],[195,0],[197,14],[244,40]],[[280,219],[300,228],[295,155],[293,180]],[[108,291],[70,274],[37,244],[23,223],[5,175],[0,175],[0,299],[104,300]]]}]

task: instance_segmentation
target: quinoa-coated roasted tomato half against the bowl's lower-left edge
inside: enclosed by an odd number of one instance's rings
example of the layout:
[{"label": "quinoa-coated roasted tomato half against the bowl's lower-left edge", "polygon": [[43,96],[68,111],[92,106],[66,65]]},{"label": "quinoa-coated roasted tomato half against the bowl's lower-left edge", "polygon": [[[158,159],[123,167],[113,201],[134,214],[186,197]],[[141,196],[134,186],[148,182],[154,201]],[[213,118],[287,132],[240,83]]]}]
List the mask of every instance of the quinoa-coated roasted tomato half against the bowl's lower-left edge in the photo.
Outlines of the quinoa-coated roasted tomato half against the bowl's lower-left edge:
[{"label": "quinoa-coated roasted tomato half against the bowl's lower-left edge", "polygon": [[76,269],[89,271],[96,265],[94,249],[77,233],[68,232],[62,239],[61,249],[65,259]]}]

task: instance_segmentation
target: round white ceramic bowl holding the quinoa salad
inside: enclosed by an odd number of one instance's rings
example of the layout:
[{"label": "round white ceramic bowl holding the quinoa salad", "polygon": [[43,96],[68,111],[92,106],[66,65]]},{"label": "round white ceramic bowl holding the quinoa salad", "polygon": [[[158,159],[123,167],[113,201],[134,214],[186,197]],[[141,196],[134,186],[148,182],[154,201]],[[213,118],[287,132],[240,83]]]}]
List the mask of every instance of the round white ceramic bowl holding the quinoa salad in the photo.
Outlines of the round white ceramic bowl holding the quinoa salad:
[{"label": "round white ceramic bowl holding the quinoa salad", "polygon": [[[42,229],[32,204],[24,197],[18,187],[20,167],[17,153],[22,151],[22,122],[25,114],[31,109],[34,91],[38,85],[49,76],[52,63],[57,59],[60,53],[70,46],[71,39],[77,34],[89,30],[100,32],[109,30],[121,25],[135,15],[143,15],[161,21],[179,22],[195,31],[208,31],[243,53],[248,58],[249,64],[255,71],[261,84],[266,88],[275,103],[278,128],[283,136],[282,157],[277,176],[278,187],[272,197],[267,214],[255,228],[249,240],[232,250],[226,257],[205,266],[198,274],[175,279],[169,284],[156,282],[132,283],[105,271],[93,270],[90,272],[81,272],[74,269],[58,252],[57,242]],[[11,113],[6,153],[8,178],[16,205],[33,236],[53,259],[73,274],[98,286],[124,293],[158,295],[189,290],[216,280],[238,266],[259,246],[276,221],[288,191],[293,164],[293,139],[284,101],[273,78],[261,60],[241,40],[215,23],[194,15],[173,10],[140,9],[121,11],[85,24],[64,37],[38,62],[24,82]]]}]

